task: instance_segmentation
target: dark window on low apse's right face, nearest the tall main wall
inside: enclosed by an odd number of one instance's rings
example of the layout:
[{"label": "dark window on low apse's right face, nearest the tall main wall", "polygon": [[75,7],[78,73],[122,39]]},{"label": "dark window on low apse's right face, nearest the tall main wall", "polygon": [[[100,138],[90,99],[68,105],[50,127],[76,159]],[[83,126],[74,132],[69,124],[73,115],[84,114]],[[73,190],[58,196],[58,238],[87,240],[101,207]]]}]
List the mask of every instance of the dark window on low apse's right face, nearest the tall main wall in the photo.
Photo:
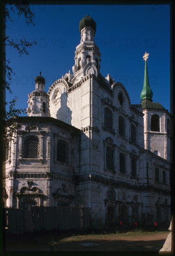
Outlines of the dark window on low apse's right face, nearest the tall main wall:
[{"label": "dark window on low apse's right face, nearest the tall main wall", "polygon": [[68,144],[65,141],[57,141],[57,161],[68,162]]}]

